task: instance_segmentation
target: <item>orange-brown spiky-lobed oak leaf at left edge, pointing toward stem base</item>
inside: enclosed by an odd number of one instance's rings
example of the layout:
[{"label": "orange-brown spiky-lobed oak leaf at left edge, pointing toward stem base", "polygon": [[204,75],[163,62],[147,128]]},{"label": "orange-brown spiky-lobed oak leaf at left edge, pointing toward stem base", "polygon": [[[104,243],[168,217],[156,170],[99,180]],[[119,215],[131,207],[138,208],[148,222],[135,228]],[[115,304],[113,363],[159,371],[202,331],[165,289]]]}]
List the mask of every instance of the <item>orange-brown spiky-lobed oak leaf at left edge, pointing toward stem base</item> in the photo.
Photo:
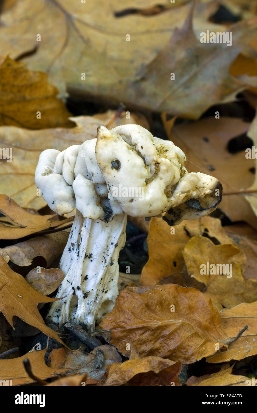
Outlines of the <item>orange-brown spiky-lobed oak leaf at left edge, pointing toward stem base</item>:
[{"label": "orange-brown spiky-lobed oak leaf at left edge, pointing toward stem base", "polygon": [[46,326],[37,308],[38,303],[53,301],[54,298],[46,297],[34,290],[22,275],[14,273],[0,256],[0,312],[12,327],[12,319],[17,316],[62,343],[57,332]]}]

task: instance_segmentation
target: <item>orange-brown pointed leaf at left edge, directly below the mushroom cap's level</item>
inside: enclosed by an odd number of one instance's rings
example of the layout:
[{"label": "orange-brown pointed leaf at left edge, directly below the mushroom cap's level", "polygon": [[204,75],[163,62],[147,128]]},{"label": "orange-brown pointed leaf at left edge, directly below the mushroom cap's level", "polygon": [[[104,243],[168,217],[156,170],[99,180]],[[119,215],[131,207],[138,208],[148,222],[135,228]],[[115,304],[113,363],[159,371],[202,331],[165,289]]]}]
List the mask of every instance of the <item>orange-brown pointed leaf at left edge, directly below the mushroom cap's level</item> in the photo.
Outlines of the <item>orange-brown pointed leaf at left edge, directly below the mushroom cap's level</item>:
[{"label": "orange-brown pointed leaf at left edge, directly below the mushroom cap's level", "polygon": [[[71,221],[70,218],[67,218],[63,221],[50,222],[49,220],[56,216],[56,214],[30,214],[19,207],[19,205],[7,195],[0,195],[0,213],[9,218],[9,222],[7,223],[6,220],[2,220],[0,217],[1,240],[15,240],[46,230],[50,227],[61,227],[64,223]],[[7,253],[4,253],[5,258],[6,254]]]}]

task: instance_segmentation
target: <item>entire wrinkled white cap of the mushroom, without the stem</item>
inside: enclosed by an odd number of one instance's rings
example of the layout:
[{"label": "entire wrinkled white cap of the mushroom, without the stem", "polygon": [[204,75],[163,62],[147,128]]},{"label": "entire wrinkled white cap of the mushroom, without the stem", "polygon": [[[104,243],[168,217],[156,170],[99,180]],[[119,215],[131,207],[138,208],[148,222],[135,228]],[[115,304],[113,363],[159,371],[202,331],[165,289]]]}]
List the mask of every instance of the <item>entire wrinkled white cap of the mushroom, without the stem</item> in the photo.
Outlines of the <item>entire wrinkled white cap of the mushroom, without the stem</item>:
[{"label": "entire wrinkled white cap of the mushroom, without the stem", "polygon": [[173,142],[139,125],[109,131],[65,151],[45,150],[35,173],[38,188],[60,215],[76,207],[84,218],[109,221],[115,214],[150,217],[166,212],[170,225],[209,214],[221,200],[221,183],[188,173],[185,154]]}]

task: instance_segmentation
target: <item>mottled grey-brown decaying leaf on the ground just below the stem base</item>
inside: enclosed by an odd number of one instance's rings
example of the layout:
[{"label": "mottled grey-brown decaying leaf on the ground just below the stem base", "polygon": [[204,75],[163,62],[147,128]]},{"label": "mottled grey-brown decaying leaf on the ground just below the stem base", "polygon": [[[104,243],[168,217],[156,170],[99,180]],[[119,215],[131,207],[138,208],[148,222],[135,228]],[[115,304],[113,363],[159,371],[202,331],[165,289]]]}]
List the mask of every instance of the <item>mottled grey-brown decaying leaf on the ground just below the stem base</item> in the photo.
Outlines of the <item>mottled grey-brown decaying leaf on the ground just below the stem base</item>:
[{"label": "mottled grey-brown decaying leaf on the ground just below the stem base", "polygon": [[[102,361],[98,363],[97,350],[102,353]],[[112,363],[121,363],[122,358],[115,347],[103,344],[96,347],[91,353],[75,350],[70,351],[65,348],[54,349],[49,355],[51,368],[65,368],[65,375],[87,374],[94,380],[103,380],[106,366]]]}]

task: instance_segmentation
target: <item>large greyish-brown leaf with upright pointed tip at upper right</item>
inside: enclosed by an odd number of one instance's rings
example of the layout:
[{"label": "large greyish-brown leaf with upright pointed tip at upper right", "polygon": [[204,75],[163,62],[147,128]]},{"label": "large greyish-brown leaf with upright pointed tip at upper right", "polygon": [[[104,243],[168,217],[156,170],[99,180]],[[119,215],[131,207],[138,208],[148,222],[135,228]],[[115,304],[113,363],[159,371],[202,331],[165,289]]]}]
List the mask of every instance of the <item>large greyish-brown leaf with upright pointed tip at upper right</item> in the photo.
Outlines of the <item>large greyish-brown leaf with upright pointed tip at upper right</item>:
[{"label": "large greyish-brown leaf with upright pointed tip at upper right", "polygon": [[139,71],[132,95],[135,101],[147,109],[191,119],[198,119],[216,103],[232,102],[239,91],[249,87],[248,82],[256,85],[256,78],[240,81],[229,72],[243,48],[242,40],[249,43],[255,37],[256,23],[253,18],[231,25],[233,46],[229,50],[226,43],[210,47],[195,36],[191,11],[184,26],[175,30],[161,52]]}]

